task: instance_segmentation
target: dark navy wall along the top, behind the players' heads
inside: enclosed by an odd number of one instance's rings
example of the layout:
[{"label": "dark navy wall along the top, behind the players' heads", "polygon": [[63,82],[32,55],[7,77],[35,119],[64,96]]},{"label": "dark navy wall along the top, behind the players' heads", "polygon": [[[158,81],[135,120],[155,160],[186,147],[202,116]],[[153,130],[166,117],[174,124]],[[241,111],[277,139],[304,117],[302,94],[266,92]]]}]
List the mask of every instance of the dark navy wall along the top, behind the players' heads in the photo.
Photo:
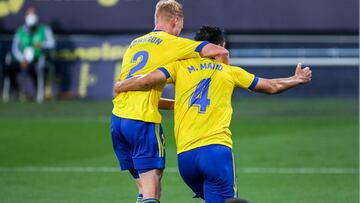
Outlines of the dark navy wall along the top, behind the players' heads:
[{"label": "dark navy wall along the top, behind the players' heads", "polygon": [[[29,5],[57,32],[150,30],[155,0],[1,0],[0,32],[23,23]],[[234,31],[357,32],[358,0],[179,0],[185,28],[202,24]]]}]

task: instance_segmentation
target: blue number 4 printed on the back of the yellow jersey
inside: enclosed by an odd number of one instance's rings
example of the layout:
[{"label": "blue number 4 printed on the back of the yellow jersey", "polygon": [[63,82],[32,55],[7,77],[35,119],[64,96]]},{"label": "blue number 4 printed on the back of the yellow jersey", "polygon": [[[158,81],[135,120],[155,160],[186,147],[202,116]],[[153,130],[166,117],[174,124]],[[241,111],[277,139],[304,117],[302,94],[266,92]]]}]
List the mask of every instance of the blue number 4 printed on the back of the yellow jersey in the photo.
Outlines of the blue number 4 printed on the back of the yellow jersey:
[{"label": "blue number 4 printed on the back of the yellow jersey", "polygon": [[205,113],[206,108],[210,105],[210,99],[208,98],[210,82],[211,78],[201,80],[191,96],[189,107],[199,107],[199,113]]}]

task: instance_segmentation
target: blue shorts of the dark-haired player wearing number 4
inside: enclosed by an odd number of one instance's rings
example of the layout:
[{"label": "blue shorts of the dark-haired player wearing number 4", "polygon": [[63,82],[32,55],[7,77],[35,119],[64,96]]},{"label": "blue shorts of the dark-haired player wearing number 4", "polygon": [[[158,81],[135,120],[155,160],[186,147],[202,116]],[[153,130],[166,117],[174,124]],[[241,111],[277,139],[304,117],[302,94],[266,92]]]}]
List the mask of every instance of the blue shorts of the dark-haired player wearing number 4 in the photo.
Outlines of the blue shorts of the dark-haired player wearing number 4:
[{"label": "blue shorts of the dark-haired player wearing number 4", "polygon": [[178,155],[180,175],[206,203],[237,198],[235,161],[231,148],[208,145]]}]

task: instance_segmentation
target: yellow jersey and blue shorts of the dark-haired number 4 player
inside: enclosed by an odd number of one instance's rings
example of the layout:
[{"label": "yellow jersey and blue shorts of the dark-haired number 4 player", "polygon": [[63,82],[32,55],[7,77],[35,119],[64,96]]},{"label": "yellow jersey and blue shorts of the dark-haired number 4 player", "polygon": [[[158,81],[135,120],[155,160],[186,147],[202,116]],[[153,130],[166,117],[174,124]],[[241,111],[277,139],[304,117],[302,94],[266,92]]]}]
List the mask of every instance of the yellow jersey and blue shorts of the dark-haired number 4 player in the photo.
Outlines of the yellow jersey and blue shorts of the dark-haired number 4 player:
[{"label": "yellow jersey and blue shorts of the dark-haired number 4 player", "polygon": [[159,70],[175,84],[175,141],[182,178],[207,203],[237,197],[231,97],[235,87],[253,90],[258,77],[204,58],[176,61]]}]

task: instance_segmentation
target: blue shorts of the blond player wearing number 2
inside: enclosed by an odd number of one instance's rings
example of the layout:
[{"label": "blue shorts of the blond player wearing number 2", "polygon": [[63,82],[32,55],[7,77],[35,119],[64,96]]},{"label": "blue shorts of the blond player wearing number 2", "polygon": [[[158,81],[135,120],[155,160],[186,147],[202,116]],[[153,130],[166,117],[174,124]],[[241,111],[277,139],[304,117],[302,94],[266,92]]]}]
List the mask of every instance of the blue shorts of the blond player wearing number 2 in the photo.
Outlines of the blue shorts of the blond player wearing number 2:
[{"label": "blue shorts of the blond player wearing number 2", "polygon": [[160,124],[112,115],[111,135],[121,170],[134,178],[151,169],[165,168],[165,139]]}]

